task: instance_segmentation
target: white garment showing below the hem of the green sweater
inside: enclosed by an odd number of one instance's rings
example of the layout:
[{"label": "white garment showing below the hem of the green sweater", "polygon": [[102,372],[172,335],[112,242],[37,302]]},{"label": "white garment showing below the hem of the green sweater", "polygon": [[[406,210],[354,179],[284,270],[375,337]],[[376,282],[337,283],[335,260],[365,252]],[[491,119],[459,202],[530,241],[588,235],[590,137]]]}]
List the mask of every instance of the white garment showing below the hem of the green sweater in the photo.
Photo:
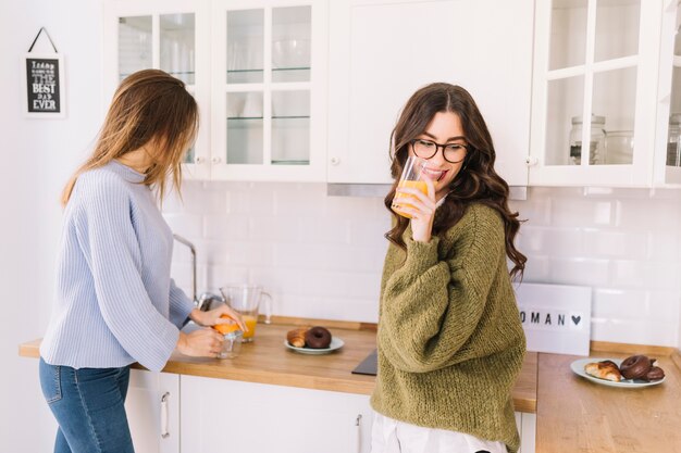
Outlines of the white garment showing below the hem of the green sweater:
[{"label": "white garment showing below the hem of the green sweater", "polygon": [[465,432],[424,428],[374,412],[371,453],[507,453],[506,444]]}]

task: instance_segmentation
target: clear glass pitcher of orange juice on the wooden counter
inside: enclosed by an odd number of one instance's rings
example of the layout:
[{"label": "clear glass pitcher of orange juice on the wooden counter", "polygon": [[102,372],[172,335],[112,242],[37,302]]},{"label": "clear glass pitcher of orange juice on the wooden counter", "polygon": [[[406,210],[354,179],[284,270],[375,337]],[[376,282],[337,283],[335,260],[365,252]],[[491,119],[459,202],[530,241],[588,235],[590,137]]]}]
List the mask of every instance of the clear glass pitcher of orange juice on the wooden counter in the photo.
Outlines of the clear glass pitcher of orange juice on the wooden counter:
[{"label": "clear glass pitcher of orange juice on the wooden counter", "polygon": [[244,332],[244,342],[253,341],[261,305],[264,314],[264,323],[271,323],[272,297],[264,292],[261,287],[247,284],[227,285],[220,288],[220,292],[224,297],[227,305],[236,310],[244,318],[244,323],[248,328],[248,330]]}]

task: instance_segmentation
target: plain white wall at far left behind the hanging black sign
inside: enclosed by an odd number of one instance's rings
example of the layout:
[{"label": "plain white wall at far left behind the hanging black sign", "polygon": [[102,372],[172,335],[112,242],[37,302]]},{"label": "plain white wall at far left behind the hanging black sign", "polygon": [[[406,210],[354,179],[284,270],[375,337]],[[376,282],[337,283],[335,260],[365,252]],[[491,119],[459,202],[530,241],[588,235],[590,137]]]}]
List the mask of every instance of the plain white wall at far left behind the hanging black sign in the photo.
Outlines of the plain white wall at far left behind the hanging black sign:
[{"label": "plain white wall at far left behind the hanging black sign", "polygon": [[[99,127],[101,4],[92,0],[0,2],[0,450],[51,451],[55,425],[42,400],[38,361],[17,355],[40,338],[51,306],[59,192]],[[20,58],[45,26],[65,58],[65,119],[26,119]],[[50,51],[40,38],[35,50]]]}]

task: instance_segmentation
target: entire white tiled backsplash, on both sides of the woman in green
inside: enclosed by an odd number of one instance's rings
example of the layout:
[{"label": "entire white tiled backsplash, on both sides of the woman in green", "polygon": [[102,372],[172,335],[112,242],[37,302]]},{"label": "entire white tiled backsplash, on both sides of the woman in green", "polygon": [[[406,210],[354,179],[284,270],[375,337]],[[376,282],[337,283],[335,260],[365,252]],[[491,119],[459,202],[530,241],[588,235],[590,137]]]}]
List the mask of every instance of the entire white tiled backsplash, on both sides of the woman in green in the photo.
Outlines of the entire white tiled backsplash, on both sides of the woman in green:
[{"label": "entire white tiled backsplash, on both sides of the woman in green", "polygon": [[[379,198],[326,197],[324,185],[186,183],[165,216],[198,249],[199,291],[257,282],[276,314],[376,320],[383,234]],[[531,188],[511,207],[525,281],[593,288],[592,339],[678,345],[681,191]],[[173,273],[189,288],[189,257]]]}]

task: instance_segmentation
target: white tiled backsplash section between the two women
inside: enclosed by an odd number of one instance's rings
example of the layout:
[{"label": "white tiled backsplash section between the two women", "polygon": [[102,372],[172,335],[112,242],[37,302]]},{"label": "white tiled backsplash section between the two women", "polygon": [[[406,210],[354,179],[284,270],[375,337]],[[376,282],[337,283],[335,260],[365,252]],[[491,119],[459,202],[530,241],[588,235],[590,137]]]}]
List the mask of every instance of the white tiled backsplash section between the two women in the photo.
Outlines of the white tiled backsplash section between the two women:
[{"label": "white tiled backsplash section between the two women", "polygon": [[[326,197],[325,185],[196,183],[163,206],[197,247],[198,291],[259,284],[275,314],[376,320],[389,218],[380,199]],[[190,288],[190,257],[175,247],[173,276]]]}]

